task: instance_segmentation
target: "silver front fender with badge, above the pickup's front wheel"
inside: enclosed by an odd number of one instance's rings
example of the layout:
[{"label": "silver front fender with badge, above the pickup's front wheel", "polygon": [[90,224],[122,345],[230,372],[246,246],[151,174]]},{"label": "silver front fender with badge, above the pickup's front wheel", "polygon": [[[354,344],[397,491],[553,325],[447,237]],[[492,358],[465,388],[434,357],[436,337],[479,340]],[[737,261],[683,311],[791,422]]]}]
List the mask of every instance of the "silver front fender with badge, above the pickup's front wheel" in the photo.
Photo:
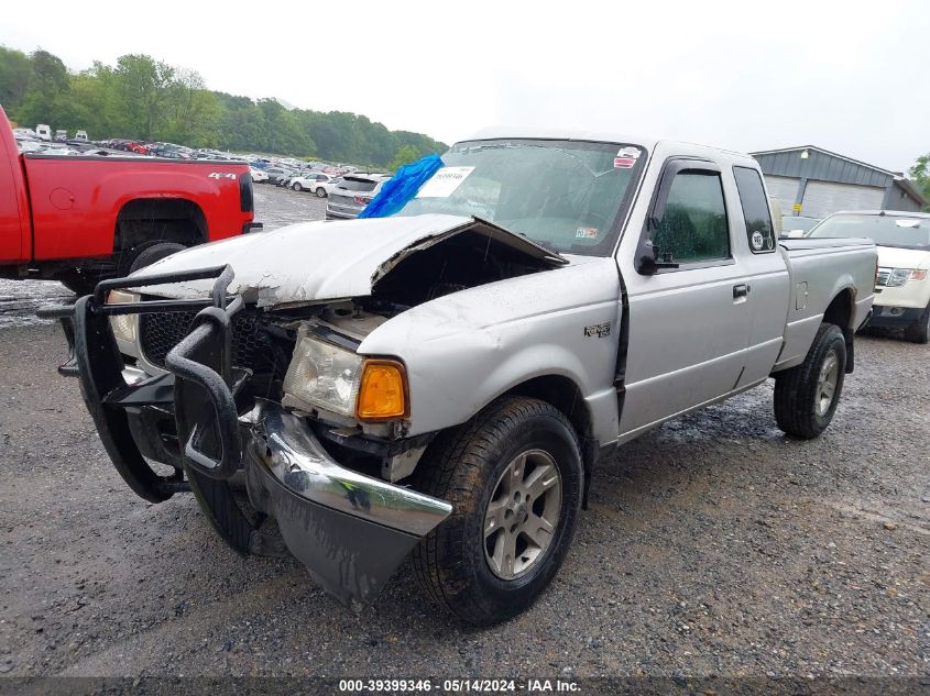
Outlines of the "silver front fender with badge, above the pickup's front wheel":
[{"label": "silver front fender with badge, above the pickup's front wheel", "polygon": [[[613,385],[619,295],[613,261],[590,259],[420,305],[379,327],[359,352],[406,365],[411,435],[463,423],[544,375],[567,377],[587,399]],[[613,409],[592,423],[601,437],[613,422],[604,441],[616,437]]]}]

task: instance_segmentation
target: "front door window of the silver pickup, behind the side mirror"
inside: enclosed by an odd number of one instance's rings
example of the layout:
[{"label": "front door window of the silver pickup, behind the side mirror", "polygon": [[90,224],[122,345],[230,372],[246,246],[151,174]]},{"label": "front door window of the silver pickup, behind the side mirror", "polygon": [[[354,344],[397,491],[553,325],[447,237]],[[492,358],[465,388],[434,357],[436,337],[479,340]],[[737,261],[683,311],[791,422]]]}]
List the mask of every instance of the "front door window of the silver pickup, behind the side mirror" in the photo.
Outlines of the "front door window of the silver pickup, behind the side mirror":
[{"label": "front door window of the silver pickup, behind the side mirror", "polygon": [[730,258],[720,174],[686,169],[675,175],[653,246],[658,259],[679,264]]}]

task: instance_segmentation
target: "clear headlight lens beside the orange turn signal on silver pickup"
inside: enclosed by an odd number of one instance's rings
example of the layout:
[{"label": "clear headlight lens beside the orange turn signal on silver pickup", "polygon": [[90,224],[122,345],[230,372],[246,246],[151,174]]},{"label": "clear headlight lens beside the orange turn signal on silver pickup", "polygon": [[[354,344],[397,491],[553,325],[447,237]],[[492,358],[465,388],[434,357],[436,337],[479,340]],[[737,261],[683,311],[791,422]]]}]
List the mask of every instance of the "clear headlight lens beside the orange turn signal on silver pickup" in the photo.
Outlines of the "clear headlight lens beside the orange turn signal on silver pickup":
[{"label": "clear headlight lens beside the orange turn signal on silver pickup", "polygon": [[284,376],[284,393],[311,407],[354,416],[362,357],[307,335],[300,327]]}]

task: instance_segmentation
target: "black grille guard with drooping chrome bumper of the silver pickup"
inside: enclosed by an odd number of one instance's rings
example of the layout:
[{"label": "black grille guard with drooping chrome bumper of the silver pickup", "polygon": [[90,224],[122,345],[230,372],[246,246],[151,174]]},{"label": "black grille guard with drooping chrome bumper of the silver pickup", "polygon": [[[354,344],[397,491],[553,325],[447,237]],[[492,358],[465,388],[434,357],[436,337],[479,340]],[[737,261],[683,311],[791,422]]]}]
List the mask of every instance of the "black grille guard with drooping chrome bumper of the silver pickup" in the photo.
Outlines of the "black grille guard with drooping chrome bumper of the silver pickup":
[{"label": "black grille guard with drooping chrome bumper of the silver pickup", "polygon": [[[160,502],[193,490],[204,512],[240,553],[277,555],[283,544],[343,604],[363,606],[422,537],[451,511],[448,502],[343,467],[303,419],[264,399],[247,399],[248,371],[231,364],[230,327],[243,309],[226,296],[227,267],[146,276],[155,286],[214,277],[209,300],[105,303],[108,291],[136,280],[101,283],[75,307],[53,309],[66,327],[72,358],[61,372],[77,375],[84,400],[117,471],[142,498]],[[198,312],[187,336],[166,356],[166,374],[128,382],[110,317]],[[132,373],[129,373],[132,374]],[[172,413],[174,433],[157,430]],[[167,438],[158,443],[153,432]],[[179,467],[160,474],[176,439]],[[250,505],[243,506],[241,486]],[[280,538],[269,532],[276,520]]]}]

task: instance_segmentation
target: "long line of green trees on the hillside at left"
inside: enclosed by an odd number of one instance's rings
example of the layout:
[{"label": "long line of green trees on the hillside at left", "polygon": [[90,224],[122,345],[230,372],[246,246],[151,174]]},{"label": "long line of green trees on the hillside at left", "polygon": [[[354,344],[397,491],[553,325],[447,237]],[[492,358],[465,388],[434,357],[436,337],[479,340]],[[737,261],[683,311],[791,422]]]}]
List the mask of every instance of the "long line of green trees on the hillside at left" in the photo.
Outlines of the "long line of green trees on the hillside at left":
[{"label": "long line of green trees on the hillside at left", "polygon": [[47,51],[0,46],[0,103],[24,125],[86,130],[91,137],[139,137],[366,165],[398,166],[446,145],[420,133],[390,131],[365,115],[286,109],[210,91],[204,78],[152,56],[120,56],[69,73]]}]

